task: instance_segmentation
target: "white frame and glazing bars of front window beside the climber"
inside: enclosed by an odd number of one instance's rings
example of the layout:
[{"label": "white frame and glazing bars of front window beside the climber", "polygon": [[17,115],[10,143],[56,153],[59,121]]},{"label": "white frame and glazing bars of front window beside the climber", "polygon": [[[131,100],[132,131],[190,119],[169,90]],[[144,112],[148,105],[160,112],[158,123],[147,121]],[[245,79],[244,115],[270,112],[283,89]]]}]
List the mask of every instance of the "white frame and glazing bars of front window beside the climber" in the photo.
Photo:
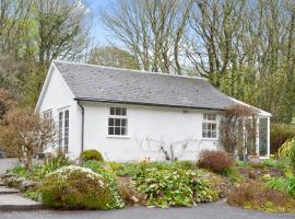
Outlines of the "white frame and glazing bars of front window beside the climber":
[{"label": "white frame and glazing bars of front window beside the climber", "polygon": [[[213,116],[215,117],[214,119],[210,119],[210,116]],[[210,140],[216,140],[219,138],[219,127],[217,127],[217,114],[214,114],[214,113],[204,113],[202,115],[202,139],[210,139]],[[203,129],[203,125],[206,125],[206,128]],[[209,129],[208,128],[208,125],[211,125],[211,128]],[[215,130],[212,129],[212,125],[215,125]],[[211,131],[211,136],[209,136],[209,130]],[[203,136],[204,131],[206,131],[206,136]],[[215,136],[212,136],[212,131],[215,131]]]}]

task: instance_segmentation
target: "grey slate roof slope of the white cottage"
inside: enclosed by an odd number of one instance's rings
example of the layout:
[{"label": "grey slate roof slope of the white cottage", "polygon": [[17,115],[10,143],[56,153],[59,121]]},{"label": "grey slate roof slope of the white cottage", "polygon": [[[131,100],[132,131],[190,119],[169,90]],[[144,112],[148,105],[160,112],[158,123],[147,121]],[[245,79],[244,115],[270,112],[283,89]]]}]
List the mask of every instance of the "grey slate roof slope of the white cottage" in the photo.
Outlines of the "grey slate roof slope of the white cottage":
[{"label": "grey slate roof slope of the white cottage", "polygon": [[236,104],[203,79],[54,61],[75,100],[223,110]]}]

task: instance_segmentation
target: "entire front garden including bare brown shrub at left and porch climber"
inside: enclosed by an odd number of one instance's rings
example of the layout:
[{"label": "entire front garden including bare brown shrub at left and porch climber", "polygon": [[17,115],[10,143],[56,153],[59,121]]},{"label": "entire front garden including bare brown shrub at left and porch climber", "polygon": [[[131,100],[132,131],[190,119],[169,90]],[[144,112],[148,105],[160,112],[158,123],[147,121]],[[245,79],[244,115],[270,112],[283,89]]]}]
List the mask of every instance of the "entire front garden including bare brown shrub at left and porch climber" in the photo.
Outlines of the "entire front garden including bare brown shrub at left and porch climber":
[{"label": "entire front garden including bare brown shrub at left and porch climber", "polygon": [[[58,150],[34,162],[33,158],[49,142],[56,142],[54,122],[30,110],[15,108],[0,124],[0,140],[19,162],[0,181],[49,209],[193,207],[222,199],[246,209],[295,212],[292,128],[273,126],[272,145],[283,145],[271,159],[239,161],[239,139],[228,138],[226,132],[237,132],[239,112],[252,114],[240,107],[227,111],[225,118],[231,123],[221,131],[225,150],[201,151],[196,161],[174,158],[119,163],[105,160],[97,150],[86,150],[71,160]],[[246,128],[249,132],[252,129],[250,125]],[[247,142],[251,142],[246,149],[253,155],[255,141]]]}]

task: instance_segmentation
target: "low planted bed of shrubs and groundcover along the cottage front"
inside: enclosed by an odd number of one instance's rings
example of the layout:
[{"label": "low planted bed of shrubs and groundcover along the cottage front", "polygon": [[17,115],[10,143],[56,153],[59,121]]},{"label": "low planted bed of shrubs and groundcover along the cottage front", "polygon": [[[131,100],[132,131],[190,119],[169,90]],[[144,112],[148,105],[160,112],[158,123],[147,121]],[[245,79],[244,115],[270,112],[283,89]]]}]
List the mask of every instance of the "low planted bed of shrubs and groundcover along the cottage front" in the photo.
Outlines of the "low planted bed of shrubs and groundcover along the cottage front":
[{"label": "low planted bed of shrubs and groundcover along the cottage front", "polygon": [[295,212],[295,140],[280,159],[234,161],[222,150],[174,162],[107,162],[96,150],[71,161],[64,154],[17,164],[2,181],[52,209],[118,209],[130,206],[193,207],[226,199],[229,205],[270,212]]}]

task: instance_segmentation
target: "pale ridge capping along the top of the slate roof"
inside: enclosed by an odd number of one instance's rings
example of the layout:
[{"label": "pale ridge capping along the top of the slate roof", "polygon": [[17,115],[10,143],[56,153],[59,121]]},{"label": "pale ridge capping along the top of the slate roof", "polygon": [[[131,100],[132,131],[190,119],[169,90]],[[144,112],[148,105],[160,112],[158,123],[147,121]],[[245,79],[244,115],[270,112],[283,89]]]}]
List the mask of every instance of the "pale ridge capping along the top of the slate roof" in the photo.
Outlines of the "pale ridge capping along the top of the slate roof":
[{"label": "pale ridge capping along the top of the slate roof", "polygon": [[52,60],[52,62],[64,62],[64,64],[79,65],[79,66],[90,66],[90,67],[98,67],[98,68],[105,68],[105,69],[132,71],[132,72],[138,72],[138,73],[160,74],[160,76],[166,76],[166,77],[187,78],[187,79],[196,79],[196,80],[206,81],[206,79],[200,78],[200,77],[170,74],[170,73],[161,72],[161,71],[153,72],[153,71],[146,71],[146,70],[126,69],[126,68],[117,68],[117,67],[109,67],[109,66],[99,66],[99,65],[94,65],[94,64],[81,64],[81,62],[73,62],[73,61],[64,61],[64,60],[57,60],[57,59]]}]

